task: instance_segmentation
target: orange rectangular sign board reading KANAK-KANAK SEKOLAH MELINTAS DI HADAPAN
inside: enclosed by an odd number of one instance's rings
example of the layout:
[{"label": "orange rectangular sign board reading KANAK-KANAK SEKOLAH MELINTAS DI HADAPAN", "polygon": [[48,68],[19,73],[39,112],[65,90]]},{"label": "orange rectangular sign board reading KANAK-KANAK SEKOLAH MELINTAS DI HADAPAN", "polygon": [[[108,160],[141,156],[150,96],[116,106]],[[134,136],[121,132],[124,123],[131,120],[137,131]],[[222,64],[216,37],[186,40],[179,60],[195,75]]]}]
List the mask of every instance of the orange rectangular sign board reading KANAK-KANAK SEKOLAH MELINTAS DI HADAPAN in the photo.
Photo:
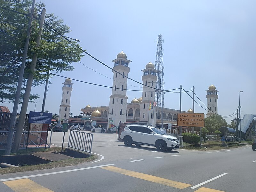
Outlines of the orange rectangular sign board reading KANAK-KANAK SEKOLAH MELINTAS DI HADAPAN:
[{"label": "orange rectangular sign board reading KANAK-KANAK SEKOLAH MELINTAS DI HADAPAN", "polygon": [[204,113],[178,113],[178,126],[204,127]]}]

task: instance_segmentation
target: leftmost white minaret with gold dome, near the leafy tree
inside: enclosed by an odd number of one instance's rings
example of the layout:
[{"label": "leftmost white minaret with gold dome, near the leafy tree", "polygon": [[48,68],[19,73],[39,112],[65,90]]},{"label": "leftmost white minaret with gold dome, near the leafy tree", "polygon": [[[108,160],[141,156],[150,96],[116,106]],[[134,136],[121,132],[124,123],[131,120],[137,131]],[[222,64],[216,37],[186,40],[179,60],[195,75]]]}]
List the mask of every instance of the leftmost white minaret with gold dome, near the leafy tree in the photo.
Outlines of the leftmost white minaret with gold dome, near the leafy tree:
[{"label": "leftmost white minaret with gold dome, near the leafy tree", "polygon": [[[71,83],[71,79],[66,79],[62,87],[62,99],[59,111],[58,124],[65,123],[65,119],[68,120],[69,112],[70,112],[70,96],[71,91],[73,90]],[[66,122],[67,123],[67,122]]]}]

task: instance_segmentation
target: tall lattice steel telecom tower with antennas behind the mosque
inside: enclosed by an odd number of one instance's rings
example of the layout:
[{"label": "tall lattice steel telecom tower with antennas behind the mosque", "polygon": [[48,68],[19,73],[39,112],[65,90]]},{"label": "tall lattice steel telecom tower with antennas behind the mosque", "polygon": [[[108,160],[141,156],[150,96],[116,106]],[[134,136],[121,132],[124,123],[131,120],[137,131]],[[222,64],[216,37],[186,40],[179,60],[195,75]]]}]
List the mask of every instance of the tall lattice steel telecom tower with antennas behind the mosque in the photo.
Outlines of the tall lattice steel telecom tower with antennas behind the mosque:
[{"label": "tall lattice steel telecom tower with antennas behind the mosque", "polygon": [[157,107],[164,108],[164,66],[163,66],[163,50],[162,50],[162,35],[158,35],[158,40],[156,41],[157,51],[156,51],[156,62],[155,68],[158,70],[157,82],[156,82],[156,103]]}]

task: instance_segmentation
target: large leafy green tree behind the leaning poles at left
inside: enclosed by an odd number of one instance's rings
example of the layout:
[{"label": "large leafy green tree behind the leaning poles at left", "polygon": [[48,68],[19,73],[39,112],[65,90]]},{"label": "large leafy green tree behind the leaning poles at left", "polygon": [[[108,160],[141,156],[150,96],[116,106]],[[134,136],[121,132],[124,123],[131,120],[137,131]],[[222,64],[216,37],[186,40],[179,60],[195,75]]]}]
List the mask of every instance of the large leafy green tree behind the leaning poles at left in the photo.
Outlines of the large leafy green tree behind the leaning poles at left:
[{"label": "large leafy green tree behind the leaning poles at left", "polygon": [[[28,14],[31,4],[31,0],[0,0],[0,103],[13,102],[15,98],[20,72],[20,64],[17,63],[22,61],[29,20],[28,16],[20,13]],[[34,14],[36,17],[39,17],[43,7],[43,3],[36,4]],[[58,19],[53,13],[46,14],[45,22],[62,35],[70,32],[69,27],[63,24],[63,20]],[[30,73],[29,68],[34,52],[38,52],[38,57],[33,86],[44,84],[46,74],[42,71],[48,70],[48,64],[50,64],[51,71],[71,71],[74,67],[70,64],[79,61],[83,56],[82,51],[77,48],[78,44],[69,43],[46,25],[43,28],[40,47],[36,48],[35,39],[38,26],[39,22],[33,20],[22,90],[26,86],[26,78]],[[39,95],[31,94],[29,101],[33,102],[38,97]],[[21,94],[20,103],[22,98]]]}]

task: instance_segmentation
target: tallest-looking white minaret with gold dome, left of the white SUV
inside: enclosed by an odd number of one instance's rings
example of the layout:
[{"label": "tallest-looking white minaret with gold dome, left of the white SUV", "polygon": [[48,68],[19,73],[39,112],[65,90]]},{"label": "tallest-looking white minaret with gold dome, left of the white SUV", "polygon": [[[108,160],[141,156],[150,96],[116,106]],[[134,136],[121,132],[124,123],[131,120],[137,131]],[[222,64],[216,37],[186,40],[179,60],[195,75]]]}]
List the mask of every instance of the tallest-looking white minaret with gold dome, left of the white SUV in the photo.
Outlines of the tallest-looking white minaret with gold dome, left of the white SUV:
[{"label": "tallest-looking white minaret with gold dome, left of the white SUV", "polygon": [[[127,110],[127,77],[130,72],[129,63],[132,62],[127,60],[126,54],[122,51],[117,54],[116,59],[113,60],[113,89],[112,95],[109,97],[109,108],[108,108],[108,128],[111,124],[118,127],[119,122],[126,122],[126,110]],[[115,71],[118,73],[116,73]]]}]

